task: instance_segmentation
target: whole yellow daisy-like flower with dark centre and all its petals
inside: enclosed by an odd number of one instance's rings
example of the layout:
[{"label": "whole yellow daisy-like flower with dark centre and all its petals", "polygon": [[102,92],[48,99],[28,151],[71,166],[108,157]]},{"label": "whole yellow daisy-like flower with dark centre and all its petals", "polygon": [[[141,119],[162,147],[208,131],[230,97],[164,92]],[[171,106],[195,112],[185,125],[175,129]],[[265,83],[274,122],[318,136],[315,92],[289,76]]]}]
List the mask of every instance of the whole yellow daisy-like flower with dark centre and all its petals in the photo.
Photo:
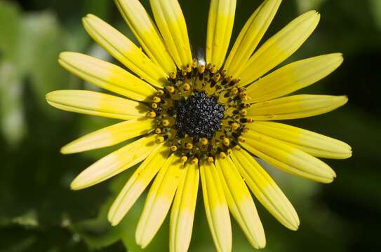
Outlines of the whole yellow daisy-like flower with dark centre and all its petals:
[{"label": "whole yellow daisy-like flower with dark centre and all its petals", "polygon": [[138,0],[115,2],[142,50],[94,15],[83,18],[83,25],[132,73],[76,52],[62,52],[59,62],[76,76],[122,97],[59,90],[46,99],[65,111],[123,120],[67,144],[62,153],[134,141],[81,172],[72,189],[93,186],[142,162],[116,197],[108,218],[117,225],[153,181],[135,234],[143,248],[171,209],[170,250],[187,251],[200,179],[218,251],[232,248],[229,211],[250,244],[265,247],[250,190],[280,223],[297,230],[298,214],[253,155],[284,172],[322,183],[333,181],[335,172],[318,158],[352,155],[342,141],[272,122],[316,116],[347,102],[345,96],[286,96],[337,69],[340,53],[302,59],[272,71],[312,34],[319,13],[300,15],[257,49],[281,3],[266,0],[227,55],[236,1],[211,0],[206,59],[193,59],[178,1],[150,1],[156,25]]}]

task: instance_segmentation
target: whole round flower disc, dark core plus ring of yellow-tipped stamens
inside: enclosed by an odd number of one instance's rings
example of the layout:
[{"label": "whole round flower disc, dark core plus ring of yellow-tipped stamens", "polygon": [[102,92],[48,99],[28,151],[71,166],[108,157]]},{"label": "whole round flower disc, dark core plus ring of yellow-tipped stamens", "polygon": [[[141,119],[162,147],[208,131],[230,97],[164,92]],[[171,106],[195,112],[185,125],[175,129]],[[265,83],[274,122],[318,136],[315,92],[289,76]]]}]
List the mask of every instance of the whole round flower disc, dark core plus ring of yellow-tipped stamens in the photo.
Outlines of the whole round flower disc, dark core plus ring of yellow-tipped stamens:
[{"label": "whole round flower disc, dark core plus ring of yellow-tipped stamens", "polygon": [[227,158],[232,149],[240,150],[241,137],[248,130],[246,118],[248,94],[237,87],[239,79],[215,64],[193,59],[192,64],[169,73],[168,83],[152,97],[156,118],[154,132],[157,143],[168,139],[168,148],[180,161],[197,164],[199,160],[213,163]]}]

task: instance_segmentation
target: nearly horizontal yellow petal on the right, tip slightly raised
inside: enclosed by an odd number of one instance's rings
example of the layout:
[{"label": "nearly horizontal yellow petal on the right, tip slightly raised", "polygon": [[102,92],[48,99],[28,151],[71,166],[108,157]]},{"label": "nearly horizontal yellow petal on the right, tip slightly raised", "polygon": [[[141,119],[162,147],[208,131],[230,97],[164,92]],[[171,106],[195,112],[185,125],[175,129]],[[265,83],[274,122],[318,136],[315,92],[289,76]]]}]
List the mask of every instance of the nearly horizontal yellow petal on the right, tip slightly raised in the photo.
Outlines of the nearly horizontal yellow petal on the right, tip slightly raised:
[{"label": "nearly horizontal yellow petal on the right, tip slightly raised", "polygon": [[253,104],[247,117],[254,120],[306,118],[333,111],[347,102],[345,96],[298,94]]}]

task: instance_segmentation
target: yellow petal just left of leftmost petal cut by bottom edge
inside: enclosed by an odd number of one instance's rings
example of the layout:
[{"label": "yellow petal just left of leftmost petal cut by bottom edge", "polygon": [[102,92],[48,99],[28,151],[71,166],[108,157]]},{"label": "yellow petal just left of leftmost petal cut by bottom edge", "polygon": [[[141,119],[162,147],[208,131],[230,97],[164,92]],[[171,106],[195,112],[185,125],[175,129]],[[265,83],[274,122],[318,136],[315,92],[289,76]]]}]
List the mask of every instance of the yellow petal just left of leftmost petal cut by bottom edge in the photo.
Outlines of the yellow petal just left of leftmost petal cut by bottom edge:
[{"label": "yellow petal just left of leftmost petal cut by bottom edge", "polygon": [[149,189],[145,207],[136,228],[136,243],[145,248],[163,224],[171,207],[184,165],[177,155],[171,155],[160,169]]}]

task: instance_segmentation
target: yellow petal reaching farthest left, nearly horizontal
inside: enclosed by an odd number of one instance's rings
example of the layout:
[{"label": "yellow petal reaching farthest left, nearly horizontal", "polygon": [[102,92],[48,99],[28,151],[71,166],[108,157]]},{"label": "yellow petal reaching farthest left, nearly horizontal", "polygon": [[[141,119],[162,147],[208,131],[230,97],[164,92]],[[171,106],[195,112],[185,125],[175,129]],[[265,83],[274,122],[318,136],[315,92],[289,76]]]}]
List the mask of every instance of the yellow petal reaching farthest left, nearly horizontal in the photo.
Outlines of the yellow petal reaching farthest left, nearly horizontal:
[{"label": "yellow petal reaching farthest left, nearly horizontal", "polygon": [[57,90],[46,94],[51,106],[64,111],[129,120],[146,116],[147,107],[140,102],[86,90]]}]

